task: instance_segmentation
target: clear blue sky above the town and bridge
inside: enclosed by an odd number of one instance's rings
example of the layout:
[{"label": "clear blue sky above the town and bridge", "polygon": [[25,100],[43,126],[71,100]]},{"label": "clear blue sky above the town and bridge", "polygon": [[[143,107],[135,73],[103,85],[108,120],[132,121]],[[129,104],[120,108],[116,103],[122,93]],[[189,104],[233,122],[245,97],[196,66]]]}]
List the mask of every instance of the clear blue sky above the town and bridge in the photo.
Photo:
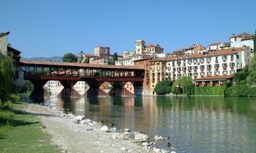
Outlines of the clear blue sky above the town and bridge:
[{"label": "clear blue sky above the town and bridge", "polygon": [[255,33],[255,0],[0,0],[0,33],[23,58],[135,50],[135,40],[164,52]]}]

